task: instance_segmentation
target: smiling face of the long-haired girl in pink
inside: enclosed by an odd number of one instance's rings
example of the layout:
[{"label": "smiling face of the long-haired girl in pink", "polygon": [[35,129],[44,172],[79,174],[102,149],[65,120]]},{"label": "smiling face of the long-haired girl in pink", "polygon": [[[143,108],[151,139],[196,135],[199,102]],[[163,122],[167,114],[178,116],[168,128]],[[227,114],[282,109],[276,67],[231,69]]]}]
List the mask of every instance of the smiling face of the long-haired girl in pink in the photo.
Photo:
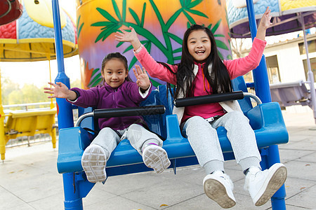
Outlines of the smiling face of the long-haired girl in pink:
[{"label": "smiling face of the long-haired girl in pink", "polygon": [[211,53],[211,40],[204,30],[194,30],[187,38],[187,50],[195,62],[205,62]]}]

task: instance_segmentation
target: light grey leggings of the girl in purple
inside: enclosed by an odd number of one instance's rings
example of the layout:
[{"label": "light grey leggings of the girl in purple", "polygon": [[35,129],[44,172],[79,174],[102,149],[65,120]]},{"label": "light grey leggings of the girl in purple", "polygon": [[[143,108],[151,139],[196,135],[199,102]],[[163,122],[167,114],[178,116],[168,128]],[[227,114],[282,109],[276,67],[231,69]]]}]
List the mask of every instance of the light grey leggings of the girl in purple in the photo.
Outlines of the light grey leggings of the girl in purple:
[{"label": "light grey leggings of the girl in purple", "polygon": [[[117,132],[122,135],[121,138],[119,138]],[[98,136],[91,142],[91,144],[98,144],[104,149],[107,160],[109,160],[110,155],[112,151],[114,151],[114,148],[117,147],[117,144],[123,139],[129,139],[131,146],[133,146],[140,155],[142,155],[143,146],[146,146],[149,143],[162,146],[162,139],[138,124],[132,124],[127,129],[118,130],[117,132],[114,132],[110,127],[104,127],[100,130]]]}]

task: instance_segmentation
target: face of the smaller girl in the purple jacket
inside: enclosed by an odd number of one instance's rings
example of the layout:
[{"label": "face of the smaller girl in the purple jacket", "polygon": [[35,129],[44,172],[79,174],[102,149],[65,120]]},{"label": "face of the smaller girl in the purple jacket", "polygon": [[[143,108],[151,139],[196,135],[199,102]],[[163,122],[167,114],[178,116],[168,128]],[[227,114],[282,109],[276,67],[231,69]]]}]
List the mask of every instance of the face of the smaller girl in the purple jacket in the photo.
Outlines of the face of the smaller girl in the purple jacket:
[{"label": "face of the smaller girl in the purple jacket", "polygon": [[105,63],[101,74],[107,85],[116,88],[124,83],[125,78],[129,75],[129,71],[126,70],[124,62],[121,59],[112,58]]}]

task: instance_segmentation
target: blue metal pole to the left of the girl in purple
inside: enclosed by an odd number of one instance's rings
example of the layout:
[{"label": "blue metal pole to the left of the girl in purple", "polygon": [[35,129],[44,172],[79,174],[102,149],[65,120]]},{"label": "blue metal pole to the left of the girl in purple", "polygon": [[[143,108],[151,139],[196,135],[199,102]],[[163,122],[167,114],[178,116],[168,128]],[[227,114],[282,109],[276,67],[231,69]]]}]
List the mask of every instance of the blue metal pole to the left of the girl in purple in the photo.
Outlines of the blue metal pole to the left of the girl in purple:
[{"label": "blue metal pole to the left of the girl in purple", "polygon": [[[70,79],[65,74],[58,0],[52,0],[52,6],[55,31],[55,50],[58,64],[58,75],[55,78],[55,83],[61,82],[64,83],[68,88],[70,88]],[[68,103],[65,99],[56,99],[56,102],[58,114],[58,129],[74,127],[72,105]],[[79,193],[79,187],[77,181],[75,180],[74,173],[62,174],[62,179],[64,184],[65,209],[83,209],[82,198]]]}]

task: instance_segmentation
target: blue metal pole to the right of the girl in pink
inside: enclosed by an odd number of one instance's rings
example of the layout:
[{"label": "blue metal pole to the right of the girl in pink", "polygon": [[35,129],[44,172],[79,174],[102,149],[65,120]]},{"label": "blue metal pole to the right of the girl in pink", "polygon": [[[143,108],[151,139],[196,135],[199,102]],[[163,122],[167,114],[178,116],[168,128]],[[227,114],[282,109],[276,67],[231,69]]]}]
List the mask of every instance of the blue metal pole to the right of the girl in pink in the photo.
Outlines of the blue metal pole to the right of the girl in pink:
[{"label": "blue metal pole to the right of the girl in pink", "polygon": [[[252,0],[246,0],[247,12],[249,18],[249,28],[251,31],[251,38],[257,35],[256,17],[254,12],[254,2]],[[261,99],[263,103],[271,102],[271,93],[268,80],[267,65],[265,63],[265,57],[261,58],[259,66],[254,69],[254,86],[256,95]],[[267,168],[274,163],[279,162],[279,147],[277,145],[269,146],[268,148],[268,162],[266,162]],[[286,197],[284,185],[277,190],[277,193],[271,197],[272,209],[286,209],[285,200]]]}]

